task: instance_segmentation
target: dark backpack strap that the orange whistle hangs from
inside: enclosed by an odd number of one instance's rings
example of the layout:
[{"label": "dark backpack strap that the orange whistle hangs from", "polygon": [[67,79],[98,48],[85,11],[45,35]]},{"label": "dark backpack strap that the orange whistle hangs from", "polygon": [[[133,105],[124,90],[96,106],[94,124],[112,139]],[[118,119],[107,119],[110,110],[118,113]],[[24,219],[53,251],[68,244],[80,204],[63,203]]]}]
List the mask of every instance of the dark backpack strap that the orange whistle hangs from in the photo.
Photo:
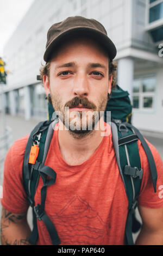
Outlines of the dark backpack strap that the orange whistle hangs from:
[{"label": "dark backpack strap that the orange whistle hangs from", "polygon": [[[23,168],[24,188],[27,192],[29,205],[33,208],[33,230],[29,239],[29,242],[33,245],[35,245],[38,237],[37,220],[45,222],[53,245],[59,245],[60,243],[57,230],[44,211],[47,186],[54,184],[56,173],[50,167],[43,166],[43,163],[46,160],[48,148],[53,136],[53,127],[56,123],[58,123],[58,119],[54,120],[53,123],[52,121],[41,122],[35,127],[29,136],[24,156],[23,167],[26,167]],[[37,139],[36,137],[39,138]],[[40,144],[39,155],[35,164],[29,164],[30,148],[34,141],[37,141]],[[43,180],[43,187],[41,189],[41,205],[35,205],[34,196],[40,176]],[[51,179],[47,180],[48,176],[51,177]]]}]

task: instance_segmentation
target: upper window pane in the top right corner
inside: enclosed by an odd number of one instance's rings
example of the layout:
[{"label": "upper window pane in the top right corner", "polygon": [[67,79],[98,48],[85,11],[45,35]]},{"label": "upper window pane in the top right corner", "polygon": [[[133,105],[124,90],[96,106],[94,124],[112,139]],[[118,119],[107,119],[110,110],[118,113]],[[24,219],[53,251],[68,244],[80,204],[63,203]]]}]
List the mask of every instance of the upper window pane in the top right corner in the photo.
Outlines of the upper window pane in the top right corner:
[{"label": "upper window pane in the top right corner", "polygon": [[149,4],[149,23],[163,19],[163,1],[150,1]]}]

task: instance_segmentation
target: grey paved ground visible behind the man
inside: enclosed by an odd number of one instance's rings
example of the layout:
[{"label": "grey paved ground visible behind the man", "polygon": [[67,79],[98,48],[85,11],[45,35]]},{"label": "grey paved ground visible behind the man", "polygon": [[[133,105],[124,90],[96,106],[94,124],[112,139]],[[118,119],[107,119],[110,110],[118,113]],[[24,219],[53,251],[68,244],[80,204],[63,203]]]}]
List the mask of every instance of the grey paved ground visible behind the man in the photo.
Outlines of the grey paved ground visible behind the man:
[{"label": "grey paved ground visible behind the man", "polygon": [[[30,131],[32,131],[33,127],[39,123],[39,121],[42,121],[44,119],[31,119],[30,121],[24,120],[24,118],[22,117],[11,117],[10,115],[7,115],[6,117],[6,124],[7,126],[10,126],[12,129],[12,143],[14,141],[16,141],[16,139],[27,135],[28,133],[30,133]],[[2,131],[3,131],[3,127],[2,127],[2,117],[1,117],[1,113],[0,113],[0,136],[2,135]],[[149,142],[151,142],[156,149],[158,149],[162,160],[163,160],[163,139],[159,139],[159,138],[154,138],[153,137],[149,137],[146,136],[146,138],[148,139]],[[1,142],[0,142],[1,145]],[[2,169],[0,169],[2,172]],[[2,173],[0,173],[0,185],[2,185]],[[0,205],[0,215],[1,215],[1,205]],[[29,209],[28,212],[28,222],[29,225],[32,225],[32,218],[31,218],[31,210]],[[137,217],[140,220],[140,216],[137,212]],[[134,235],[134,240],[136,239],[137,234]]]}]

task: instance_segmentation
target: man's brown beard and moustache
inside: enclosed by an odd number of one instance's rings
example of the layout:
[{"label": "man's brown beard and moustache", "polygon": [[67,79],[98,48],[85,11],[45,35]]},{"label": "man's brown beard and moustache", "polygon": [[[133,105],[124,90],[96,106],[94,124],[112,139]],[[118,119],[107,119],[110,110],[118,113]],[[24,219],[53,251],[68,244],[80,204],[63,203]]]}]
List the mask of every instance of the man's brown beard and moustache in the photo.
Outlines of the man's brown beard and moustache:
[{"label": "man's brown beard and moustache", "polygon": [[[52,105],[55,112],[62,124],[66,127],[66,130],[76,139],[90,135],[92,131],[95,130],[96,124],[99,119],[101,119],[101,111],[105,111],[108,98],[107,93],[101,95],[97,106],[95,103],[87,100],[86,97],[74,97],[63,105],[60,96],[56,94],[53,95],[51,92]],[[69,111],[72,107],[76,107],[80,104],[88,108],[88,111]]]}]

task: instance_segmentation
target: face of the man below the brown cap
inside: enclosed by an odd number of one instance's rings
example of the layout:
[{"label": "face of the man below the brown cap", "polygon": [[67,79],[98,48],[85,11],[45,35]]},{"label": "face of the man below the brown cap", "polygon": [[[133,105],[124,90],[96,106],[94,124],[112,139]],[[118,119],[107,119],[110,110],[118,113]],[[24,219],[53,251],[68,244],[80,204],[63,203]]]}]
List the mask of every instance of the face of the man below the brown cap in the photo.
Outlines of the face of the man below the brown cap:
[{"label": "face of the man below the brown cap", "polygon": [[93,129],[99,120],[97,113],[105,111],[111,90],[109,58],[90,39],[67,42],[55,54],[49,79],[44,76],[43,82],[62,123],[71,133],[85,135],[91,132],[90,122]]}]

